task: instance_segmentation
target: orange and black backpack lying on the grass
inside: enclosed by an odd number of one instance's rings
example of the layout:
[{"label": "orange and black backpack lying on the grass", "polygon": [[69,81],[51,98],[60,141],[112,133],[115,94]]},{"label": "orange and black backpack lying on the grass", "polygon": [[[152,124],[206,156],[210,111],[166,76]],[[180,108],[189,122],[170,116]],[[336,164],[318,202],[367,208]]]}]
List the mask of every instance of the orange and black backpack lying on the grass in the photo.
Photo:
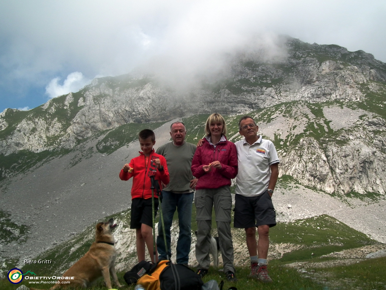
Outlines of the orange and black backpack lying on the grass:
[{"label": "orange and black backpack lying on the grass", "polygon": [[199,290],[203,285],[200,275],[185,265],[174,265],[163,260],[137,281],[147,290]]}]

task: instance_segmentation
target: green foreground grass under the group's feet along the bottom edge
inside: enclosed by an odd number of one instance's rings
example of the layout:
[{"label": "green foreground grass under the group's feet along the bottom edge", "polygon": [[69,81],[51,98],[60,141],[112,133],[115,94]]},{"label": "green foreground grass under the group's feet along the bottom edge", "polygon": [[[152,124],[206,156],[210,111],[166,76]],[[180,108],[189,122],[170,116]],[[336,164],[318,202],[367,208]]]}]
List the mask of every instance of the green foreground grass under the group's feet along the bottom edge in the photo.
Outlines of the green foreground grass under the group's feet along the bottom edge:
[{"label": "green foreground grass under the group's feet along the bottom edge", "polygon": [[[205,283],[214,279],[220,283],[223,280],[225,282],[223,289],[237,287],[237,289],[240,290],[383,290],[386,288],[385,269],[386,257],[383,257],[365,260],[344,267],[307,269],[308,273],[312,273],[312,276],[305,277],[306,275],[302,275],[296,269],[285,267],[283,262],[276,260],[271,262],[268,267],[269,275],[273,279],[273,283],[264,284],[249,278],[249,269],[241,267],[236,267],[238,281],[235,283],[227,282],[225,274],[212,267],[209,269],[208,275],[203,278],[203,281]],[[124,285],[123,289],[134,289],[133,285],[128,286],[125,283],[123,278],[124,272],[117,274],[120,283]],[[23,280],[22,283],[18,285],[12,285],[7,279],[0,280],[0,289],[2,290],[15,290],[20,285],[29,287],[26,280]],[[49,284],[34,284],[34,287],[39,289],[49,289],[51,286]],[[107,287],[103,285],[103,279],[101,278],[88,289],[106,290]]]}]

